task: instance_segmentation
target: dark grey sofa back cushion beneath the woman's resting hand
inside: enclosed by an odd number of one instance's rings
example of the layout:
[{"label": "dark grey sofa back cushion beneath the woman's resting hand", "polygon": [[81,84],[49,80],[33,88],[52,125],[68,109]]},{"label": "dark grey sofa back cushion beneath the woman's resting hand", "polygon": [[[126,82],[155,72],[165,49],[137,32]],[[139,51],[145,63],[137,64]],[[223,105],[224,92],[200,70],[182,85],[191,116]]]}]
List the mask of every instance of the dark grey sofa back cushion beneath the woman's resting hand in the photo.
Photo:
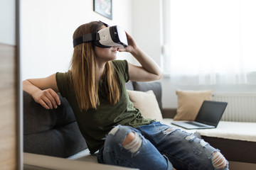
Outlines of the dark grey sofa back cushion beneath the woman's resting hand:
[{"label": "dark grey sofa back cushion beneath the woman's resting hand", "polygon": [[69,157],[86,149],[74,113],[60,96],[61,105],[47,110],[23,91],[23,150],[33,154]]}]

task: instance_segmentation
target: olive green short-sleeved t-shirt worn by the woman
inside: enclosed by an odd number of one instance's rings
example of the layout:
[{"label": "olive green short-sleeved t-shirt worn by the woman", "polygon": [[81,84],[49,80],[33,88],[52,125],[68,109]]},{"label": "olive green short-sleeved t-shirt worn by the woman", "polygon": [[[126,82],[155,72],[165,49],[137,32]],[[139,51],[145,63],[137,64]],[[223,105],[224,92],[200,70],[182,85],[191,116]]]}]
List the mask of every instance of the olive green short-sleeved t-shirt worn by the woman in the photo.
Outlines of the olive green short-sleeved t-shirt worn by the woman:
[{"label": "olive green short-sleeved t-shirt worn by the woman", "polygon": [[98,96],[100,105],[96,109],[90,108],[87,111],[80,111],[77,99],[75,97],[74,87],[70,82],[70,72],[56,73],[56,82],[60,94],[67,98],[70,106],[73,108],[78,127],[88,149],[93,154],[104,144],[107,133],[115,125],[128,125],[137,128],[140,125],[148,125],[151,119],[144,118],[141,112],[134,108],[129,100],[125,83],[129,81],[129,67],[126,60],[112,61],[115,72],[119,79],[120,97],[119,101],[111,105],[107,100],[107,92],[103,81],[99,81]]}]

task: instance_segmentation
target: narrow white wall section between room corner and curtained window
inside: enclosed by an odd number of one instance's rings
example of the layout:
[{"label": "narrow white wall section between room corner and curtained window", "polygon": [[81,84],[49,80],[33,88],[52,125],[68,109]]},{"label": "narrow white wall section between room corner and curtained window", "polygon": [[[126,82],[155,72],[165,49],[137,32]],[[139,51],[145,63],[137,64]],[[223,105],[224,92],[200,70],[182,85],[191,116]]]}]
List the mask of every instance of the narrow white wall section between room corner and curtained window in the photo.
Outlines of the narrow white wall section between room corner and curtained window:
[{"label": "narrow white wall section between room corner and curtained window", "polygon": [[139,47],[161,64],[161,0],[132,1],[132,33]]}]

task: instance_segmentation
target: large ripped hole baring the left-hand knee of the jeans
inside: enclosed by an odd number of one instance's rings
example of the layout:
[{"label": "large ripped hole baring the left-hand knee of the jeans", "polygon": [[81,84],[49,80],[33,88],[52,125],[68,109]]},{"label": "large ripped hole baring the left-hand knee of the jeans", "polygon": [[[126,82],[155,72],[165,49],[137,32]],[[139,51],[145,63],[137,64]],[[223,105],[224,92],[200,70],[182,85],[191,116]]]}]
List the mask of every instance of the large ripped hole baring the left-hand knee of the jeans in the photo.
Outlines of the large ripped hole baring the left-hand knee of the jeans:
[{"label": "large ripped hole baring the left-hand knee of the jeans", "polygon": [[138,133],[129,132],[128,135],[124,138],[122,146],[124,147],[124,149],[135,153],[142,146],[142,138],[139,137]]}]

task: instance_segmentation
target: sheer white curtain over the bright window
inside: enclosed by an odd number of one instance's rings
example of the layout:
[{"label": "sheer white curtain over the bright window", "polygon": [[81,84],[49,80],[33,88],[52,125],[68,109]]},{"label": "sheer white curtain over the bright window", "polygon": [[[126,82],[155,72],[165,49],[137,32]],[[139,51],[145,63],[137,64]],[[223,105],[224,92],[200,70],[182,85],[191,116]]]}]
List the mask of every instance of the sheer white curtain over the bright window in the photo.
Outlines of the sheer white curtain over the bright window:
[{"label": "sheer white curtain over the bright window", "polygon": [[182,84],[255,84],[255,0],[163,0],[164,70]]}]

